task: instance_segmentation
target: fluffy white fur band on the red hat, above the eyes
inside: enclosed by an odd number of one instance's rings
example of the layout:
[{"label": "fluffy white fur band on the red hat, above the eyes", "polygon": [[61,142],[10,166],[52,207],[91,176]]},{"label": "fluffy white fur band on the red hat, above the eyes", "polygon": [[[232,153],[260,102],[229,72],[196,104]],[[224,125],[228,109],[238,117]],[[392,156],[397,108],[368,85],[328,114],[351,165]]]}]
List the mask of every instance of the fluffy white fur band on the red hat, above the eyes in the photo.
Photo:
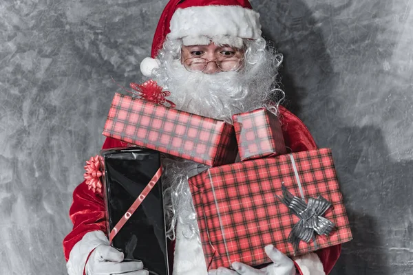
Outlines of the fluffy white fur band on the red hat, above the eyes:
[{"label": "fluffy white fur band on the red hat, above the eyes", "polygon": [[207,5],[178,9],[171,19],[168,39],[198,36],[261,37],[260,14],[238,5]]}]

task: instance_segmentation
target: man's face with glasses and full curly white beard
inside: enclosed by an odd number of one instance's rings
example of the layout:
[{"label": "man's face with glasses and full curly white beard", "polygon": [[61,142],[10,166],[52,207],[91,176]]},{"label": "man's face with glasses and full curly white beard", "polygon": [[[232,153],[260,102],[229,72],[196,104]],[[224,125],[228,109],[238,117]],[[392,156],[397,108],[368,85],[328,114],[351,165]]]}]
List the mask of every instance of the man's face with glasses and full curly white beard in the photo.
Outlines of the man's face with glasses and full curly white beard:
[{"label": "man's face with glasses and full curly white beard", "polygon": [[177,109],[232,123],[234,113],[262,107],[271,91],[273,63],[265,55],[255,41],[241,48],[167,41],[154,80],[171,92]]}]

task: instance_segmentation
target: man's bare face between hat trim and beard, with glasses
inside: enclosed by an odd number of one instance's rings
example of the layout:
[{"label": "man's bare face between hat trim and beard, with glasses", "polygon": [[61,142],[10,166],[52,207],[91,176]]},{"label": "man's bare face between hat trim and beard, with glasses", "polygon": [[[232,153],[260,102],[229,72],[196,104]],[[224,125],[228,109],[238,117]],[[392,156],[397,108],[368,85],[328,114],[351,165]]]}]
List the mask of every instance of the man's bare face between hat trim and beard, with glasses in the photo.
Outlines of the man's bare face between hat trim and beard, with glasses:
[{"label": "man's bare face between hat trim and beard, with glasses", "polygon": [[229,45],[182,46],[181,63],[189,72],[216,74],[237,71],[242,67],[243,49]]}]

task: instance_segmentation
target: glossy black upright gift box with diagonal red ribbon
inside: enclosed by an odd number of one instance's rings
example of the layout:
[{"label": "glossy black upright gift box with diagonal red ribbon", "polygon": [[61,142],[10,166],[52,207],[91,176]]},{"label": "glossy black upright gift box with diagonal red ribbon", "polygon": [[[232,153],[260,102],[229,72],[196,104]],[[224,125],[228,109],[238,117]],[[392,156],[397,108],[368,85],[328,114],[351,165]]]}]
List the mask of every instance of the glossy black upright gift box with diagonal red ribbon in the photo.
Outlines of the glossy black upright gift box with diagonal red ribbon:
[{"label": "glossy black upright gift box with diagonal red ribbon", "polygon": [[[160,153],[141,148],[116,148],[103,157],[108,234],[149,184],[160,167]],[[125,260],[140,260],[149,274],[168,275],[162,184],[160,179],[112,241]]]}]

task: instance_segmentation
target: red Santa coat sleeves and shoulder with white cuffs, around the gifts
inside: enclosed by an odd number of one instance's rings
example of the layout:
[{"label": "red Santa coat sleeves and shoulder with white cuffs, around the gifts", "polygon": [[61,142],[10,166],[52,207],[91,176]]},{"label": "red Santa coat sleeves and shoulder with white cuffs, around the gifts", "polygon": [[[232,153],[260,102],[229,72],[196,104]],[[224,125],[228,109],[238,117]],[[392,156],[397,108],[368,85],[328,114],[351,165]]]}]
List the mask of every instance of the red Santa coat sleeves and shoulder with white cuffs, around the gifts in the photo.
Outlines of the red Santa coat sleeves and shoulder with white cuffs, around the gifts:
[{"label": "red Santa coat sleeves and shoulder with white cuffs, around the gifts", "polygon": [[[279,107],[279,113],[283,126],[284,140],[286,142],[286,146],[289,147],[291,151],[308,151],[317,148],[313,137],[310,135],[307,127],[303,122],[301,122],[301,120],[299,120],[299,118],[293,115],[293,113],[290,113],[290,111],[284,107]],[[127,144],[108,137],[103,144],[103,149],[123,146],[127,146]],[[70,262],[72,262],[67,264],[69,274],[79,274],[79,270],[83,270],[89,253],[92,252],[97,245],[107,241],[103,234],[98,233],[97,236],[95,234],[95,232],[98,231],[107,234],[103,195],[100,193],[95,193],[92,190],[88,190],[85,182],[77,186],[73,192],[73,203],[70,208],[70,219],[73,223],[73,229],[63,240],[63,251],[65,253],[66,261],[69,261],[70,259]],[[71,254],[71,251],[76,243],[84,239],[83,237],[85,235],[85,239],[89,238],[91,234],[93,235],[91,241],[88,241],[86,246],[83,245],[83,248],[77,248],[78,250],[81,250],[80,252]],[[171,245],[171,250],[173,250],[173,247],[174,246]],[[319,261],[322,263],[325,274],[329,274],[332,267],[334,267],[337,262],[337,259],[339,259],[341,254],[341,245],[335,245],[330,248],[318,250],[316,254]],[[76,259],[73,259],[75,257]],[[313,257],[317,258],[316,256]],[[76,261],[78,261],[78,263],[76,263]],[[301,262],[299,263],[299,261]],[[306,265],[313,265],[314,261],[318,262],[318,259],[299,259],[296,260],[295,264],[301,275],[310,273],[313,274],[315,272],[310,272],[312,267],[306,267]],[[74,267],[74,263],[76,263],[76,267]],[[82,273],[83,271],[81,271],[80,274]]]}]

